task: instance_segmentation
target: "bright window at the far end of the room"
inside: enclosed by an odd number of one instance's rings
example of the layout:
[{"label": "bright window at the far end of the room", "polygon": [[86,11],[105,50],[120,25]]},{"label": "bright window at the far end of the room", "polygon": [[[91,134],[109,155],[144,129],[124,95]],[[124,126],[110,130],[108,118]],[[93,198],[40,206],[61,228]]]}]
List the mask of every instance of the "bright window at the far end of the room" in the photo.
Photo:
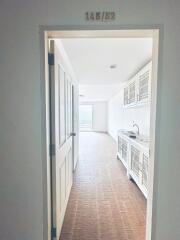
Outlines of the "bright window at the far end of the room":
[{"label": "bright window at the far end of the room", "polygon": [[93,120],[93,106],[80,105],[79,106],[79,124],[80,130],[92,130]]}]

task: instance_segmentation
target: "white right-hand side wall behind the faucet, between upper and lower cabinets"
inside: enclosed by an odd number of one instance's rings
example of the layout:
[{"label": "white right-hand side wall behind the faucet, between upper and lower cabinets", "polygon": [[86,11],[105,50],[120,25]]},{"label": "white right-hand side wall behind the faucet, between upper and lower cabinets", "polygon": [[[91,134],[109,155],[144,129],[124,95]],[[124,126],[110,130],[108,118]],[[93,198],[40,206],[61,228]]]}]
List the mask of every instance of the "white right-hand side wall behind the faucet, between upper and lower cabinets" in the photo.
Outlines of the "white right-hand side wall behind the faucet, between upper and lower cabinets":
[{"label": "white right-hand side wall behind the faucet, between upper and lower cabinets", "polygon": [[149,136],[150,105],[124,107],[122,87],[119,93],[108,101],[108,132],[117,140],[119,129],[137,130],[133,128],[133,121],[139,125],[140,134]]}]

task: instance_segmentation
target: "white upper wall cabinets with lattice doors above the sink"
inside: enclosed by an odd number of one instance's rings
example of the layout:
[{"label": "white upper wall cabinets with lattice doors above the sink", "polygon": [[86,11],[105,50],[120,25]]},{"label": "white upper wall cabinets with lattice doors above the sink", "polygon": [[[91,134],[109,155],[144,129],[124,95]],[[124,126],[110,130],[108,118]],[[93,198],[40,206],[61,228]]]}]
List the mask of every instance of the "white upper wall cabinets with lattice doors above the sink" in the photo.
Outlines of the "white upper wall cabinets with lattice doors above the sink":
[{"label": "white upper wall cabinets with lattice doors above the sink", "polygon": [[151,96],[152,62],[143,67],[124,87],[124,106],[146,103]]}]

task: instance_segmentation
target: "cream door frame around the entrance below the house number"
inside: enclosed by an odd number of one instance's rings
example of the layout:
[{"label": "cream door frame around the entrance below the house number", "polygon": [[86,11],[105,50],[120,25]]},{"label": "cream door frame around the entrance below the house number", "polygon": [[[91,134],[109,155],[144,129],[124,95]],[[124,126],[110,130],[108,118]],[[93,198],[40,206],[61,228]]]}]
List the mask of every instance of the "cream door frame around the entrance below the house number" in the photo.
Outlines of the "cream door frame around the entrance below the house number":
[{"label": "cream door frame around the entrance below the house number", "polygon": [[[154,239],[156,232],[156,209],[158,191],[158,122],[160,113],[160,85],[162,72],[162,25],[115,25],[115,26],[40,26],[40,80],[41,80],[41,119],[42,119],[42,181],[43,181],[43,240],[51,239],[51,183],[50,183],[50,112],[48,39],[49,38],[89,38],[89,37],[152,37],[152,100],[150,120],[150,177],[147,200],[146,240]],[[156,160],[155,160],[156,159]]]}]

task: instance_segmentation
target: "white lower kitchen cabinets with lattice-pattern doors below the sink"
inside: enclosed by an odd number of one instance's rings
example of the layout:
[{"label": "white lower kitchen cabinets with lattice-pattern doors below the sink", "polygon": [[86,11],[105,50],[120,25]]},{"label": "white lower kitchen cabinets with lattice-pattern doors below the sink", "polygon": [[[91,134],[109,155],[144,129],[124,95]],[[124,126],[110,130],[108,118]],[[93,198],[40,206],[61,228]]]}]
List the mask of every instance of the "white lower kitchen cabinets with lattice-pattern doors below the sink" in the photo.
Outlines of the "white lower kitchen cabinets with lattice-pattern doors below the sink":
[{"label": "white lower kitchen cabinets with lattice-pattern doors below the sink", "polygon": [[117,156],[126,167],[128,177],[136,182],[147,198],[149,149],[124,134],[118,134]]}]

